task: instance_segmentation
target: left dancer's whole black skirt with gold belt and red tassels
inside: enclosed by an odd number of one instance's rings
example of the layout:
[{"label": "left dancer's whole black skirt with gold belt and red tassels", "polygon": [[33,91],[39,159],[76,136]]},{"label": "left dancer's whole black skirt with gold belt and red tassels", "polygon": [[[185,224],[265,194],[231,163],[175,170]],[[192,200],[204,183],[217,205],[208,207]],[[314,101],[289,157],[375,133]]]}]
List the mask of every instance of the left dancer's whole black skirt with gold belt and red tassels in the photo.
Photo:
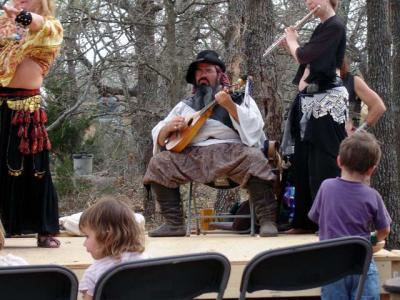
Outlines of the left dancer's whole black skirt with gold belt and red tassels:
[{"label": "left dancer's whole black skirt with gold belt and red tassels", "polygon": [[55,234],[58,198],[39,90],[0,88],[0,217],[7,234]]}]

